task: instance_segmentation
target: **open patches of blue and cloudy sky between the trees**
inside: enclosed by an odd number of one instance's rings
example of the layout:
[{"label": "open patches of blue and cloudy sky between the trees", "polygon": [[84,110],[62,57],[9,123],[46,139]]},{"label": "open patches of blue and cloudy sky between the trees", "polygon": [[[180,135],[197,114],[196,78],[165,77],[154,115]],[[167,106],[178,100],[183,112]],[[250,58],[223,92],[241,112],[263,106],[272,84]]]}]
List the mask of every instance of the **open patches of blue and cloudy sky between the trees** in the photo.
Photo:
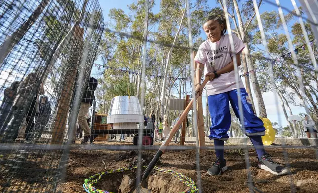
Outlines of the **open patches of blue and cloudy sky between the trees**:
[{"label": "open patches of blue and cloudy sky between the trees", "polygon": [[[275,0],[263,0],[263,2],[264,3],[260,7],[260,13],[262,13],[264,11],[272,11],[272,10],[278,11],[278,7],[276,6]],[[285,7],[286,9],[293,10],[293,5],[292,5],[290,0],[280,0],[280,2],[282,3],[282,6]],[[131,0],[120,0],[120,1],[119,0],[118,1],[117,0],[114,0],[114,1],[113,0],[111,0],[111,1],[100,0],[100,5],[101,5],[101,8],[103,10],[105,22],[107,22],[109,20],[108,13],[109,13],[109,10],[111,8],[120,8],[125,13],[129,13],[129,9],[127,8],[127,5],[131,4],[131,3],[132,3]],[[274,5],[271,3],[273,3]],[[300,3],[298,2],[298,0],[296,0],[296,3],[297,3],[297,5],[300,6]],[[156,5],[153,8],[153,12],[158,13],[160,1],[156,0],[155,4]],[[210,7],[219,6],[218,4],[215,3],[215,0],[209,0],[208,4]],[[286,10],[283,10],[283,11],[284,11],[284,13],[288,13],[288,11],[286,11]],[[284,32],[284,31],[282,31],[282,32]],[[205,33],[202,33],[201,37],[203,39],[206,39]],[[245,84],[245,80],[243,77],[242,77],[242,81]],[[251,89],[253,90],[253,88],[251,88]],[[258,106],[257,106],[257,102],[256,102],[257,99],[255,98],[255,94],[254,93],[252,93],[252,94],[254,96],[254,103],[256,105],[256,112],[258,112]],[[205,96],[205,93],[203,93],[203,96]],[[264,93],[262,96],[264,99],[268,118],[271,120],[271,122],[277,122],[280,126],[283,126],[283,127],[287,126],[287,121],[284,117],[283,110],[281,108],[281,103],[279,101],[278,96],[275,95],[273,92]],[[299,100],[299,99],[296,99],[296,102],[299,102],[297,100]],[[204,113],[204,115],[205,115],[205,105],[204,105],[205,102],[206,102],[206,97],[203,97],[203,113]],[[299,114],[301,112],[302,113],[305,112],[304,108],[299,107],[299,106],[292,106],[291,105],[291,109],[292,109],[293,114]]]}]

